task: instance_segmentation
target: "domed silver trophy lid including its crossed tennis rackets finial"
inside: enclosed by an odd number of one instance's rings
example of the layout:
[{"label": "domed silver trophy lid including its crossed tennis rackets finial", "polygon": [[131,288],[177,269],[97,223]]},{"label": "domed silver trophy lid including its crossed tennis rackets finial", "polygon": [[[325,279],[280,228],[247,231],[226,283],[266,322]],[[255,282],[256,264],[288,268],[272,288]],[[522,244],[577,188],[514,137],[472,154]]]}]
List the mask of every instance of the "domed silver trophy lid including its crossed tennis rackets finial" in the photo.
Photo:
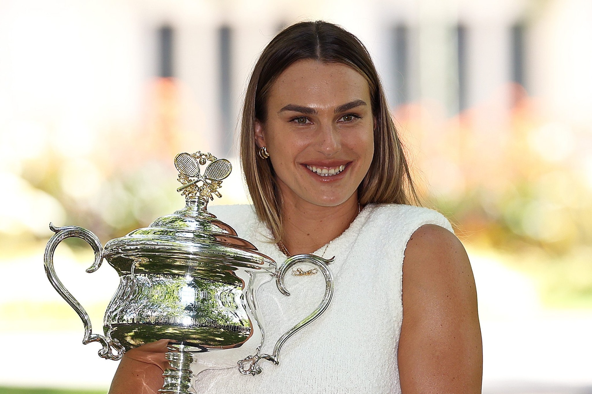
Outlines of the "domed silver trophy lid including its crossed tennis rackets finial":
[{"label": "domed silver trophy lid including its crossed tennis rackets finial", "polygon": [[[205,167],[201,173],[200,166]],[[269,270],[275,261],[259,253],[249,241],[239,238],[230,225],[207,211],[213,195],[230,175],[229,160],[211,153],[179,153],[175,157],[177,189],[185,196],[185,208],[157,218],[149,227],[131,231],[105,244],[105,258],[118,272],[183,274],[190,270]],[[215,279],[215,278],[214,278]]]}]

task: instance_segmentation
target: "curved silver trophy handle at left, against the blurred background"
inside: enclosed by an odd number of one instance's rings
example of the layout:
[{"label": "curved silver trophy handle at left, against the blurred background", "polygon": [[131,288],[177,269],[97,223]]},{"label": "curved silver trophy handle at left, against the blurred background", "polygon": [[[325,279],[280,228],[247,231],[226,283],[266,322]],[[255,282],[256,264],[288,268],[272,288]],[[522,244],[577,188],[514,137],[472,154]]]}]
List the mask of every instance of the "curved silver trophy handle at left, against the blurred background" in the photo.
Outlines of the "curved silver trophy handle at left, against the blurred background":
[{"label": "curved silver trophy handle at left, against the blurred background", "polygon": [[76,301],[74,296],[66,290],[63,283],[58,279],[56,271],[53,267],[53,253],[56,250],[57,245],[65,240],[66,238],[76,237],[85,240],[95,251],[95,262],[91,267],[86,269],[86,272],[95,272],[103,261],[103,246],[99,238],[94,233],[86,230],[85,228],[78,226],[67,226],[67,227],[55,227],[52,223],[49,224],[49,228],[55,232],[52,238],[50,238],[45,248],[44,254],[44,266],[47,278],[52,283],[54,289],[66,300],[67,303],[72,306],[78,316],[82,320],[84,325],[84,340],[83,344],[89,344],[91,342],[99,342],[103,345],[103,348],[99,350],[99,356],[104,359],[119,360],[123,356],[125,351],[124,347],[118,343],[117,340],[113,340],[110,335],[104,337],[100,334],[92,334],[91,318],[88,317],[85,309],[82,305]]}]

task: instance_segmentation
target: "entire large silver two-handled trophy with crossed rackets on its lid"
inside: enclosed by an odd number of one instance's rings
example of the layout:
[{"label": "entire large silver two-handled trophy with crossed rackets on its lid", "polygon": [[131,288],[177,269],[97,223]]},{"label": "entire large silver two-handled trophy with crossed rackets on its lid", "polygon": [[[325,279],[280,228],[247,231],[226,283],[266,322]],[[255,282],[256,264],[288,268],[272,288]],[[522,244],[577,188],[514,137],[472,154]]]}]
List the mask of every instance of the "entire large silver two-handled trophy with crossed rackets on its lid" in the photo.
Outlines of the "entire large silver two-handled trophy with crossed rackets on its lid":
[{"label": "entire large silver two-handled trophy with crossed rackets on its lid", "polygon": [[[202,174],[201,167],[208,162]],[[261,372],[262,359],[279,364],[285,341],[329,306],[333,278],[327,264],[333,259],[300,254],[278,267],[207,211],[208,201],[213,195],[221,196],[218,189],[230,175],[228,160],[199,151],[180,153],[175,157],[175,167],[182,183],[177,190],[185,195],[185,208],[108,241],[105,247],[85,228],[50,224],[56,234],[47,243],[44,262],[53,287],[82,319],[83,344],[99,342],[99,356],[119,360],[126,350],[169,340],[166,359],[170,369],[163,373],[165,384],[159,392],[185,394],[195,393],[191,378],[202,370],[237,367],[242,374],[256,375]],[[85,309],[54,270],[53,253],[69,237],[82,238],[95,251],[95,261],[86,272],[95,272],[107,259],[120,276],[105,311],[104,335],[92,333]],[[289,295],[284,276],[300,263],[312,264],[323,274],[323,300],[277,340],[272,354],[262,354],[265,330],[257,290],[262,283],[275,279],[279,291]]]}]

